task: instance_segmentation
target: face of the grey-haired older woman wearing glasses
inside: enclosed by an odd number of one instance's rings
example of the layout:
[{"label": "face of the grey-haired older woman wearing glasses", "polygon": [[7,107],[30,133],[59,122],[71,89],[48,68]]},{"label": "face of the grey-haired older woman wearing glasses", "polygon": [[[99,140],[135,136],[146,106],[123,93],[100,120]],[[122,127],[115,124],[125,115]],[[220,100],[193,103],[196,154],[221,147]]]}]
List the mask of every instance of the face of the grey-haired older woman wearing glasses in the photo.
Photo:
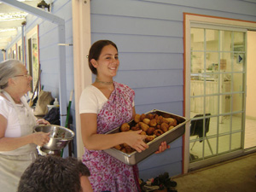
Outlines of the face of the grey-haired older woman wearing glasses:
[{"label": "face of the grey-haired older woman wearing glasses", "polygon": [[15,75],[17,90],[22,94],[26,94],[27,91],[31,90],[32,77],[28,74],[23,64],[18,65],[18,68],[19,73]]}]

